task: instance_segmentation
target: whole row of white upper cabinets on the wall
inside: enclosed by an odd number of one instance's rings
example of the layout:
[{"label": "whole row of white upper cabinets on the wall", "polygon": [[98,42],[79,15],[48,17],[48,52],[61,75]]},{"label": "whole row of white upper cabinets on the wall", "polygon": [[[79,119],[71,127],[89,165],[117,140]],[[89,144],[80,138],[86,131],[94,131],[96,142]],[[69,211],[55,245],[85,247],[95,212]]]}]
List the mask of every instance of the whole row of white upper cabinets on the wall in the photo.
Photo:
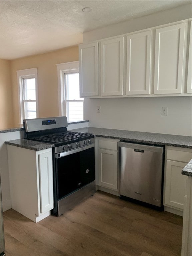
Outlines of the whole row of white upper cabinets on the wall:
[{"label": "whole row of white upper cabinets on the wall", "polygon": [[79,45],[81,97],[191,96],[188,25],[191,19]]}]

